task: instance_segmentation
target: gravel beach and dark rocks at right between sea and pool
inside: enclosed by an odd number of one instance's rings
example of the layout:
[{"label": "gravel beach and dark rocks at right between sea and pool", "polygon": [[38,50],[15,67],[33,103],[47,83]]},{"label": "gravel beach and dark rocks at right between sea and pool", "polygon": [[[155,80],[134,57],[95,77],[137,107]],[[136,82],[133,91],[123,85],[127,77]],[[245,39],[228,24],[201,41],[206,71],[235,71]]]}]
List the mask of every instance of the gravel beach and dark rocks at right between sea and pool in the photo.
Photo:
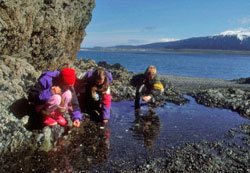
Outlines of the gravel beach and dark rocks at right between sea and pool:
[{"label": "gravel beach and dark rocks at right between sea and pool", "polygon": [[223,80],[181,76],[163,76],[175,91],[190,95],[208,107],[230,109],[250,118],[250,83],[248,78]]}]

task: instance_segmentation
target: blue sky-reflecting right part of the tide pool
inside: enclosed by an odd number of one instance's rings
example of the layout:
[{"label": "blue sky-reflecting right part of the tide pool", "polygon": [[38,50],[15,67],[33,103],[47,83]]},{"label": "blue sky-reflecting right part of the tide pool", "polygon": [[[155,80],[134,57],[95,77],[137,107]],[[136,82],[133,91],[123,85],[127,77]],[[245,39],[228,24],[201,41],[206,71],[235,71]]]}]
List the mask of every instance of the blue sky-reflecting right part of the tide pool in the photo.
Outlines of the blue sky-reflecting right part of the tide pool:
[{"label": "blue sky-reflecting right part of the tide pool", "polygon": [[156,108],[151,117],[148,107],[144,106],[139,123],[135,121],[133,102],[113,103],[111,129],[117,130],[112,130],[112,136],[123,133],[124,141],[133,140],[142,144],[145,138],[151,137],[153,148],[165,149],[186,142],[220,140],[229,129],[249,122],[236,112],[205,107],[196,104],[191,97],[188,99],[190,104],[184,106],[167,103],[164,107]]}]

